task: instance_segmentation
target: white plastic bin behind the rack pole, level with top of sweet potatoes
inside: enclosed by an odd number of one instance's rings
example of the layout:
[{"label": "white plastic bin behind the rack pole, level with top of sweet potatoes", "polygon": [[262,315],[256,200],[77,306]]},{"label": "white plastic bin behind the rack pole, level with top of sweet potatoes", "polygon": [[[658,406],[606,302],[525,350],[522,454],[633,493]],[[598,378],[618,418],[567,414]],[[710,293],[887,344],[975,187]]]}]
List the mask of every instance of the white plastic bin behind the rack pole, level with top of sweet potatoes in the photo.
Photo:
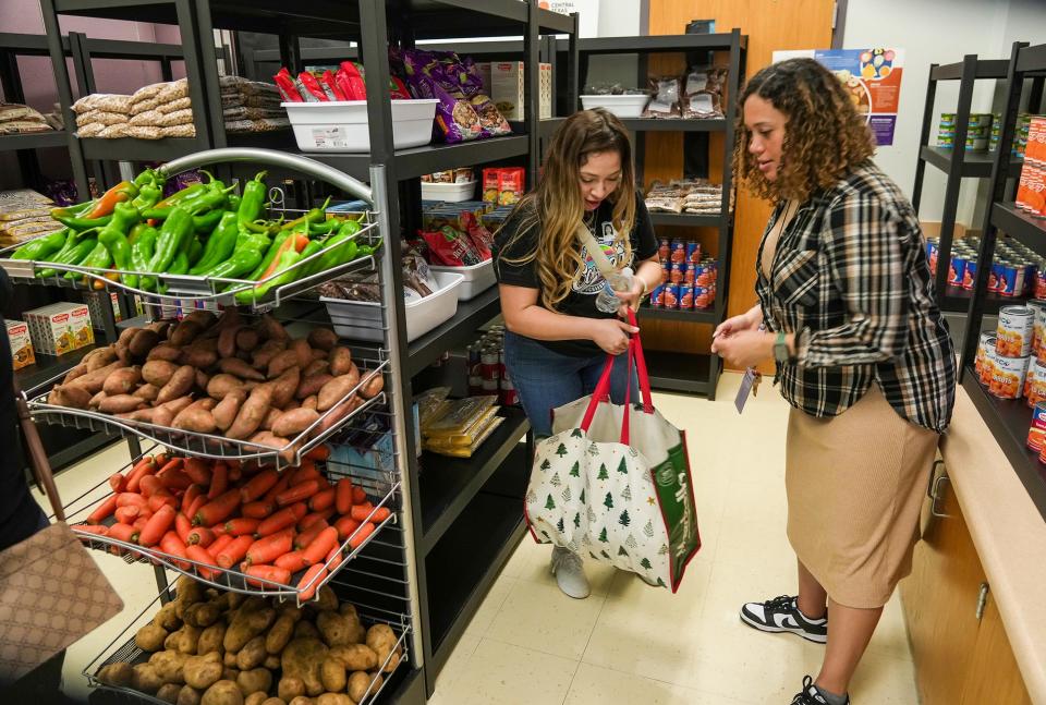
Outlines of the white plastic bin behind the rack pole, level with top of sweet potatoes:
[{"label": "white plastic bin behind the rack pole, level with top of sweet potatoes", "polygon": [[[406,340],[412,341],[424,336],[439,324],[453,318],[458,313],[458,287],[464,281],[464,275],[437,272],[435,275],[439,290],[421,301],[406,304]],[[345,301],[344,299],[319,299],[327,305],[335,332],[350,340],[380,342],[381,304],[369,301]]]}]

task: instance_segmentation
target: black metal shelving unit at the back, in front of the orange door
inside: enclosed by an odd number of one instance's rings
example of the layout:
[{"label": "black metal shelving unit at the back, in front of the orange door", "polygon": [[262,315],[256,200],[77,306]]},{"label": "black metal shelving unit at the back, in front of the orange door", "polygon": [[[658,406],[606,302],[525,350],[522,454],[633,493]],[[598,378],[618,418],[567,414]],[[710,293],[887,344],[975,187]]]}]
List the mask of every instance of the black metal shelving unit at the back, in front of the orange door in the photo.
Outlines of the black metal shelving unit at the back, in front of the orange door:
[{"label": "black metal shelving unit at the back, in front of the orange door", "polygon": [[[559,52],[569,49],[565,41],[557,45]],[[636,53],[640,56],[637,81],[638,85],[647,82],[647,57],[650,53],[689,53],[696,51],[728,52],[727,106],[725,113],[734,114],[737,99],[744,76],[745,57],[747,53],[747,36],[740,29],[722,34],[685,34],[645,37],[600,37],[580,39],[577,41],[577,65],[581,76],[587,74],[588,63],[595,57],[605,54]],[[562,54],[561,54],[562,56]],[[640,308],[641,318],[657,320],[673,320],[693,324],[716,325],[721,321],[727,312],[728,290],[730,284],[730,250],[733,240],[734,214],[731,205],[733,191],[733,174],[731,172],[731,155],[733,153],[734,127],[733,121],[726,118],[711,120],[686,119],[623,119],[624,126],[635,135],[636,181],[643,183],[643,162],[645,156],[645,141],[638,138],[647,132],[674,133],[723,133],[723,170],[722,170],[722,204],[718,215],[676,215],[652,212],[650,218],[661,236],[668,233],[661,228],[673,228],[671,233],[679,232],[676,228],[715,228],[718,231],[718,263],[719,280],[717,282],[716,304],[709,311],[665,311],[650,308],[644,305]],[[719,356],[708,353],[682,353],[673,351],[670,355],[660,355],[657,351],[648,351],[647,358],[650,369],[657,375],[650,376],[650,384],[657,389],[671,391],[686,391],[706,396],[709,400],[716,398],[716,387],[722,364]],[[655,364],[654,361],[657,361]]]}]

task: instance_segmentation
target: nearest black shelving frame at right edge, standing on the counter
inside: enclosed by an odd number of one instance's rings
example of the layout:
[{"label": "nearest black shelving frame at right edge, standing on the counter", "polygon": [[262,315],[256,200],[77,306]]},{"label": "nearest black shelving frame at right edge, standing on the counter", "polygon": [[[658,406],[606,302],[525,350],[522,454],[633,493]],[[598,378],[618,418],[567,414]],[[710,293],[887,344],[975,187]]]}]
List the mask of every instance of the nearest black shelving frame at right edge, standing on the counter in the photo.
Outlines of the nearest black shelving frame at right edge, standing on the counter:
[{"label": "nearest black shelving frame at right edge, standing on the counter", "polygon": [[[1029,497],[1046,520],[1046,465],[1039,463],[1037,454],[1031,452],[1025,446],[1027,430],[1032,423],[1032,411],[1024,399],[1004,400],[994,397],[981,385],[974,370],[982,323],[985,315],[990,313],[985,294],[998,233],[1005,232],[1041,255],[1046,253],[1046,220],[1020,211],[1010,200],[1012,190],[1008,193],[1005,189],[1006,171],[1009,169],[1007,163],[1009,160],[1006,157],[1010,155],[1013,144],[1025,81],[1032,78],[1027,110],[1041,112],[1046,108],[1043,101],[1044,76],[1046,76],[1046,45],[1029,47],[1026,42],[1014,42],[1010,59],[1006,62],[1002,129],[992,165],[992,202],[984,216],[977,279],[970,299],[966,331],[960,351],[959,374],[963,389],[973,400],[974,406],[981,413],[1007,459],[1012,463]],[[965,125],[965,121],[962,124]],[[958,132],[959,125],[956,129]]]}]

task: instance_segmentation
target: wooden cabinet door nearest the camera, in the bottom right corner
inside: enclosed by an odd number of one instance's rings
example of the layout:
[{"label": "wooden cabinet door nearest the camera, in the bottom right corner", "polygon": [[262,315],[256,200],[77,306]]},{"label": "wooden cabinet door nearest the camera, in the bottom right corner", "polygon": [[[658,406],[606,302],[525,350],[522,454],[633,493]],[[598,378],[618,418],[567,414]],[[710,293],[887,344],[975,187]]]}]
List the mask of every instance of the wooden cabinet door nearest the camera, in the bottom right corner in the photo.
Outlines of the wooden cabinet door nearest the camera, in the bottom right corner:
[{"label": "wooden cabinet door nearest the camera, in the bottom right corner", "polygon": [[970,661],[962,705],[1032,705],[1032,698],[1024,688],[1024,679],[1013,657],[1013,649],[1006,636],[998,604],[990,591],[981,618],[977,645]]}]

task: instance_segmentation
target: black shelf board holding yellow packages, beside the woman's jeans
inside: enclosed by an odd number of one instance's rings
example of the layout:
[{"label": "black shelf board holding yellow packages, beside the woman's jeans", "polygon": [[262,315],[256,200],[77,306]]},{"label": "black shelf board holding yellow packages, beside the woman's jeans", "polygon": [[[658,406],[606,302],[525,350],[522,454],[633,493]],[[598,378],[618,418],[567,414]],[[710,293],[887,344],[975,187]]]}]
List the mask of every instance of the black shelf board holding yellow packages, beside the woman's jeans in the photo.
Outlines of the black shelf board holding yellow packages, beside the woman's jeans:
[{"label": "black shelf board holding yellow packages, beside the woman's jeans", "polygon": [[520,409],[504,408],[506,421],[472,458],[426,452],[418,479],[422,497],[422,552],[428,554],[490,476],[520,445],[531,424]]}]

